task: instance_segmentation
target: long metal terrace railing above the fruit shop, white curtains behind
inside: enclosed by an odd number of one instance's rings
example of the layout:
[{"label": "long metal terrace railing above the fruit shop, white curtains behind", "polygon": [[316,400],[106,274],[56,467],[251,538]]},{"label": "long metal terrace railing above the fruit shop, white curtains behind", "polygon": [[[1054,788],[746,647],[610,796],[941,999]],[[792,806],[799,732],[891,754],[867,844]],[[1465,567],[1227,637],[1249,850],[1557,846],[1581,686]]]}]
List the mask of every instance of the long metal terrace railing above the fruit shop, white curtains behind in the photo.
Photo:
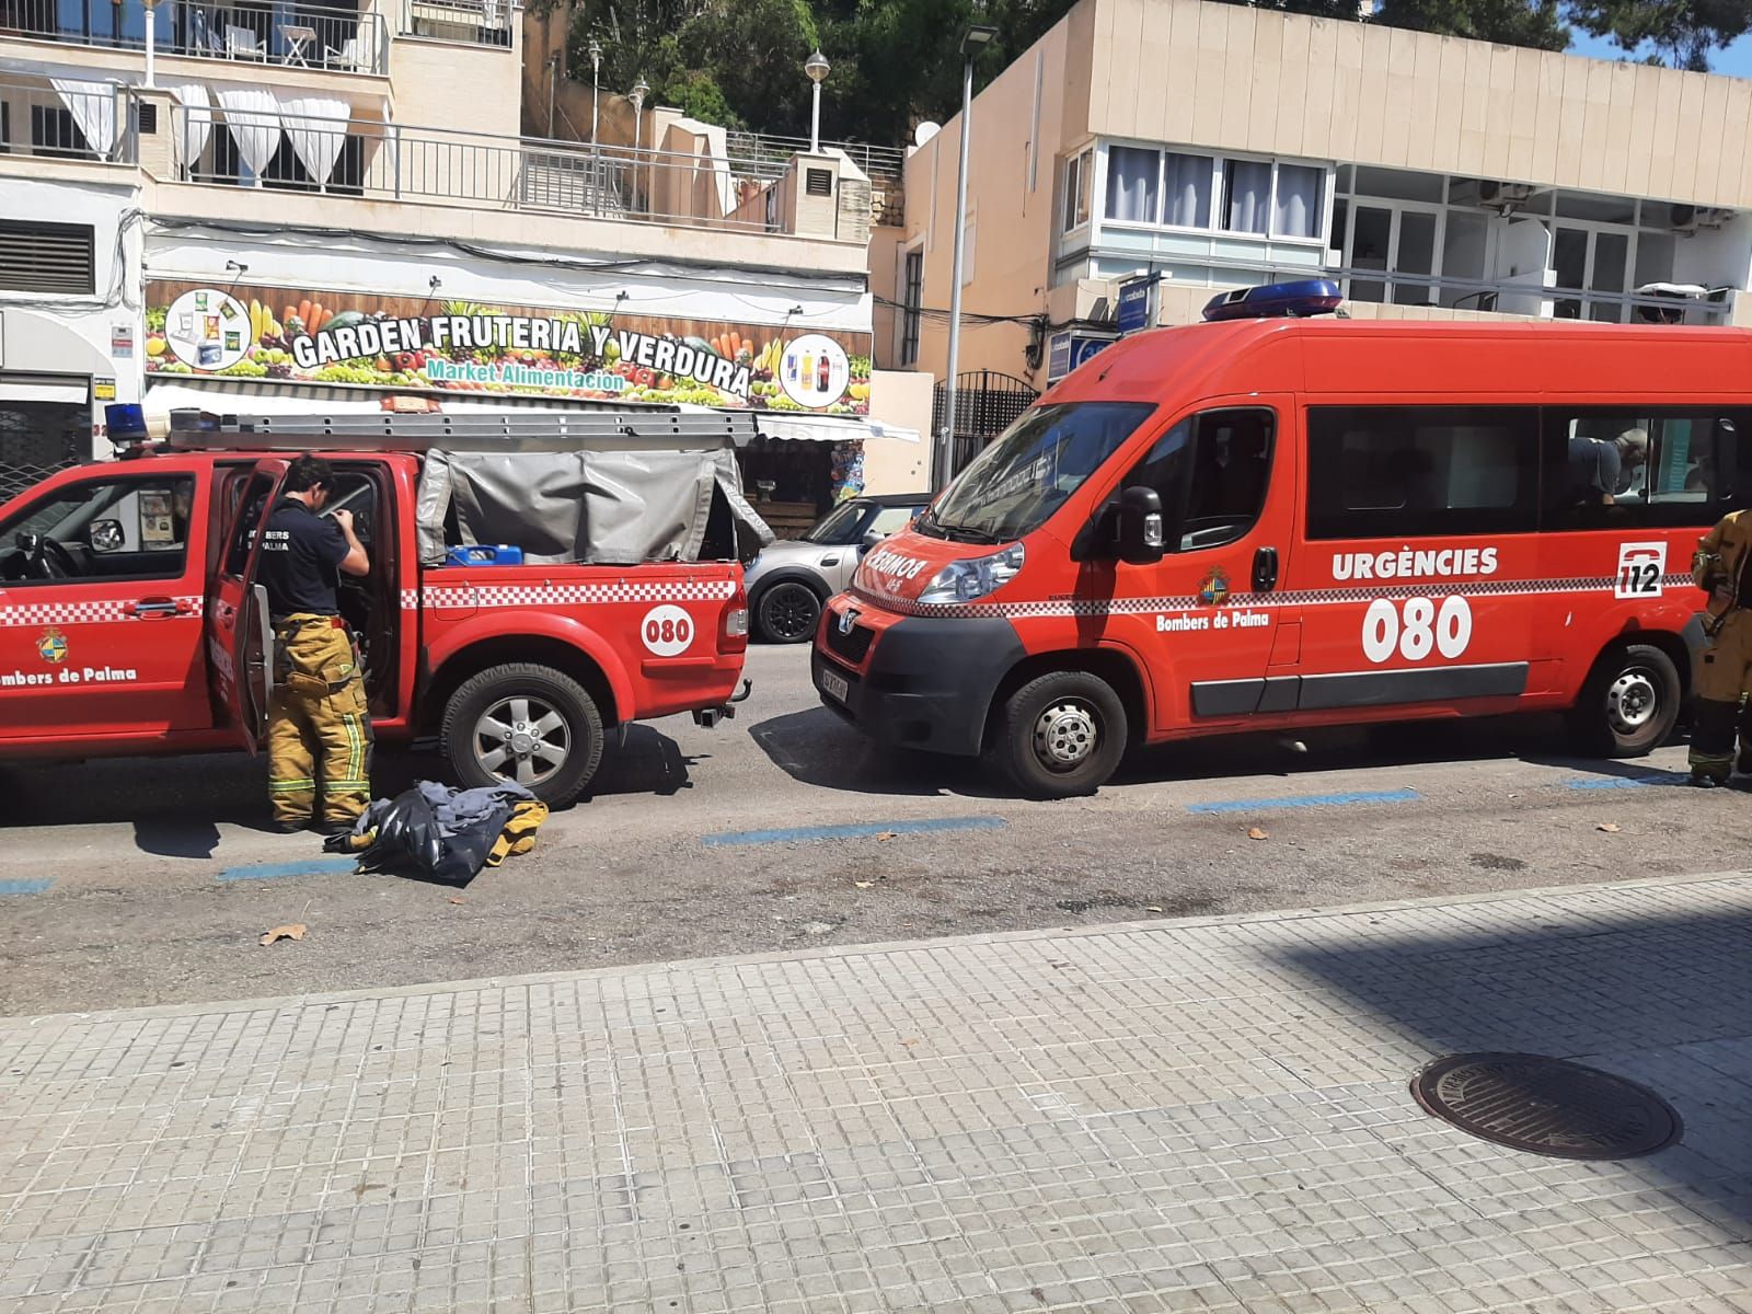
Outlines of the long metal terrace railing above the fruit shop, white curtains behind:
[{"label": "long metal terrace railing above the fruit shop, white curtains behind", "polygon": [[759,159],[310,119],[259,105],[237,117],[233,133],[219,105],[173,107],[182,180],[771,231],[766,208],[750,201],[785,175]]}]

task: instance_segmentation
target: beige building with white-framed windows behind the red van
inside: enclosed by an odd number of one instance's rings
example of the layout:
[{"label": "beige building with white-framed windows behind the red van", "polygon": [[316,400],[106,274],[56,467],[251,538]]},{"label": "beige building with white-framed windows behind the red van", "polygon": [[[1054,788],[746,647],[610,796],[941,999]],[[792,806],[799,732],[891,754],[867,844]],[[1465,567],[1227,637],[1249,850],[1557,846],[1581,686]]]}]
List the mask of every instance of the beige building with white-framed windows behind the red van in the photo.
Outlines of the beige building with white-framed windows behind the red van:
[{"label": "beige building with white-framed windows behind the red van", "polygon": [[[957,427],[1100,350],[1128,284],[1144,324],[1296,277],[1358,317],[1752,322],[1748,128],[1731,77],[1083,0],[974,100]],[[909,156],[872,275],[906,307],[878,357],[939,375],[958,135]]]}]

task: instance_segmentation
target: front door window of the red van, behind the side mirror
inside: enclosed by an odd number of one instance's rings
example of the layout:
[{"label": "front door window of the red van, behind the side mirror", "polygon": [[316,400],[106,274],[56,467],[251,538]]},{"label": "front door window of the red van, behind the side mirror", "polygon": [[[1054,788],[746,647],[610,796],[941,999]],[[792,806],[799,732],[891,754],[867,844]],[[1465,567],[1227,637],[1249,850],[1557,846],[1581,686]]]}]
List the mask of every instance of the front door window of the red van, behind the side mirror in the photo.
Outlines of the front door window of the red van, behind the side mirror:
[{"label": "front door window of the red van, behind the side mirror", "polygon": [[1156,491],[1165,519],[1181,527],[1177,552],[1233,543],[1265,506],[1275,431],[1277,415],[1265,408],[1195,415],[1162,434],[1120,487]]}]

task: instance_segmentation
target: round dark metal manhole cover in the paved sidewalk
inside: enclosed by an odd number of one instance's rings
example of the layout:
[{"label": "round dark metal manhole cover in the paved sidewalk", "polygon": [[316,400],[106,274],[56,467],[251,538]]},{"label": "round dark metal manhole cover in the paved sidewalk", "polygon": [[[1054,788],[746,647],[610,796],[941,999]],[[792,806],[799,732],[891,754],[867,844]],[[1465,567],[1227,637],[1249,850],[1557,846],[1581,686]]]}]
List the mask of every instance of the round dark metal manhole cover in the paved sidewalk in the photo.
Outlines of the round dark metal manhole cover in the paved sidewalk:
[{"label": "round dark metal manhole cover in the paved sidewalk", "polygon": [[1684,1125],[1635,1081],[1544,1055],[1451,1055],[1412,1081],[1437,1118],[1500,1146],[1558,1158],[1636,1158]]}]

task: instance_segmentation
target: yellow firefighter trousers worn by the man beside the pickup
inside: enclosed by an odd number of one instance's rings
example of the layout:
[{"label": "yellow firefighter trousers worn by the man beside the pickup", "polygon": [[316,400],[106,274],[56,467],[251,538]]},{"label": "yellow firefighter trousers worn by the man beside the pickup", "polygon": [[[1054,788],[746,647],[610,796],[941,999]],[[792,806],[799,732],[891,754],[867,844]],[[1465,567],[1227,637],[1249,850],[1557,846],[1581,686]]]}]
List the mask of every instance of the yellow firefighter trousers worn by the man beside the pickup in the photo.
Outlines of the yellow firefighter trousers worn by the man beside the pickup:
[{"label": "yellow firefighter trousers worn by the man beside the pickup", "polygon": [[280,648],[268,704],[273,820],[352,822],[371,802],[373,743],[352,639],[328,617],[307,615],[287,617],[275,636]]}]

